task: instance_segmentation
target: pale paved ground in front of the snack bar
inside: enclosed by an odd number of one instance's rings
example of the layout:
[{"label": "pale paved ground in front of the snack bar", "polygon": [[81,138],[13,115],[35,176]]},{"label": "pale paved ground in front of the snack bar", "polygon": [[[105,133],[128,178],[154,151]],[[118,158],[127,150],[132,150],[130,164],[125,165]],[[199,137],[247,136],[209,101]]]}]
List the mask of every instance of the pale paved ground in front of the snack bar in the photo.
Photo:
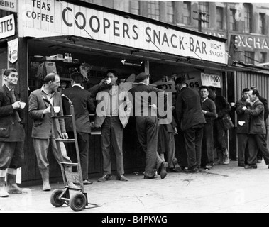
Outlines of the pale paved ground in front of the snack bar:
[{"label": "pale paved ground in front of the snack bar", "polygon": [[[89,213],[226,213],[269,212],[269,170],[265,163],[257,170],[229,165],[215,165],[197,174],[168,173],[165,179],[143,179],[143,175],[126,175],[128,182],[114,180],[85,187],[89,202],[101,207],[85,209]],[[63,188],[62,183],[52,184]],[[41,186],[27,194],[0,198],[0,212],[74,212],[69,206],[55,208],[51,192]]]}]

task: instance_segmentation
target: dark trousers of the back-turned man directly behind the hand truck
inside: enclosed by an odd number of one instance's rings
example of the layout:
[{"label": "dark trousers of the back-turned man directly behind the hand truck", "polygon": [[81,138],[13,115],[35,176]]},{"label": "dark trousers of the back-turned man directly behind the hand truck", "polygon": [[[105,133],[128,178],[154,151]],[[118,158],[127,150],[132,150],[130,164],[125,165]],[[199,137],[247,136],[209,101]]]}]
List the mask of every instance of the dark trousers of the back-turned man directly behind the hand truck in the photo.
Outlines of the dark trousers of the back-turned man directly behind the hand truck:
[{"label": "dark trousers of the back-turned man directly behind the hand truck", "polygon": [[[74,133],[73,132],[67,132],[68,138],[73,139]],[[77,132],[77,143],[79,145],[79,157],[80,157],[80,164],[82,168],[82,177],[84,179],[88,179],[88,171],[89,171],[89,133],[82,133]],[[72,145],[72,148],[70,147],[72,144],[65,144],[65,146],[68,146],[68,155],[71,157],[72,162],[77,162],[77,155],[75,153],[75,145]],[[72,154],[70,154],[70,151],[72,150]]]}]

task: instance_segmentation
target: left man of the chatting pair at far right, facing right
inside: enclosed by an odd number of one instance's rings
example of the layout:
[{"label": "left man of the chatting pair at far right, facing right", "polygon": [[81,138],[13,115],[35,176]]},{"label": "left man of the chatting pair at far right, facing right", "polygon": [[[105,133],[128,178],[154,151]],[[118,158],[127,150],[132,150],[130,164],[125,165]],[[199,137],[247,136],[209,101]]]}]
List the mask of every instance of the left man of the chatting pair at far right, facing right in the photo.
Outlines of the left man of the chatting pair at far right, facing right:
[{"label": "left man of the chatting pair at far right, facing right", "polygon": [[246,106],[250,109],[250,103],[247,101],[249,97],[249,89],[245,88],[242,91],[242,99],[236,101],[236,114],[237,114],[237,147],[238,147],[238,166],[245,167],[246,164],[246,148],[248,144],[248,131],[250,115],[243,111]]}]

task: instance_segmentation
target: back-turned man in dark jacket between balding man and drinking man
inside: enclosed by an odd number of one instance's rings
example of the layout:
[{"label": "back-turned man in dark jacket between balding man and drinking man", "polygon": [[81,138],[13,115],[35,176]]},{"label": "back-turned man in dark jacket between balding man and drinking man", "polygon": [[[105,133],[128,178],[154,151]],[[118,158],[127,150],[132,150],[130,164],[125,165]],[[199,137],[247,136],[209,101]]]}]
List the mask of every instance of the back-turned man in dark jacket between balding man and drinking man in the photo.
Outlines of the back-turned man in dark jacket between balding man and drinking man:
[{"label": "back-turned man in dark jacket between balding man and drinking man", "polygon": [[[79,145],[79,157],[82,167],[83,184],[92,184],[88,181],[88,169],[89,169],[89,133],[91,133],[91,125],[89,122],[89,113],[94,113],[95,106],[91,98],[91,94],[84,90],[83,75],[79,72],[71,74],[72,87],[64,89],[62,94],[65,94],[74,106],[75,121],[77,128],[77,142]],[[67,100],[63,99],[64,115],[70,115],[70,104]],[[72,119],[67,118],[65,120],[65,130],[67,131],[69,138],[74,138]],[[65,144],[70,157],[74,155],[74,146],[71,144]],[[76,160],[76,157],[75,157]],[[74,161],[74,160],[73,160]]]}]

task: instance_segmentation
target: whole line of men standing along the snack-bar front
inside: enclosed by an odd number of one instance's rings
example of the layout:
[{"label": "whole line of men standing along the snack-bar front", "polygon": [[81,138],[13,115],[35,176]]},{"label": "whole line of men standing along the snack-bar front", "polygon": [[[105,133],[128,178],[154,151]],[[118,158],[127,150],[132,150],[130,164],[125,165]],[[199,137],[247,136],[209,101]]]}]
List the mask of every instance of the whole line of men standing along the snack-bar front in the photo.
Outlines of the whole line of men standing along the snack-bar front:
[{"label": "whole line of men standing along the snack-bar front", "polygon": [[[234,109],[238,114],[238,166],[246,169],[257,168],[258,150],[262,153],[266,165],[269,164],[269,151],[265,140],[265,106],[256,88],[244,89],[242,99],[230,104],[224,96],[216,96],[214,87],[200,87],[199,93],[186,85],[184,75],[175,80],[177,97],[175,106],[169,106],[167,92],[149,86],[150,75],[142,72],[136,76],[138,85],[128,92],[117,86],[119,75],[114,70],[106,73],[107,77],[99,84],[86,90],[82,87],[83,76],[79,72],[71,74],[72,87],[64,89],[65,94],[74,105],[79,157],[81,160],[84,184],[92,184],[88,180],[89,133],[91,125],[89,112],[95,111],[94,127],[101,128],[101,152],[103,155],[104,175],[98,179],[105,182],[112,179],[111,146],[116,155],[116,179],[128,181],[124,176],[123,165],[123,129],[128,124],[129,116],[136,119],[137,138],[146,154],[144,179],[154,179],[157,174],[164,179],[168,172],[195,173],[204,167],[214,166],[214,148],[217,150],[218,164],[229,164],[229,150],[226,145],[226,128],[223,118]],[[75,162],[73,148],[60,142],[57,150],[55,138],[52,137],[52,120],[50,105],[43,100],[48,99],[52,106],[60,106],[58,115],[70,114],[70,106],[62,101],[60,92],[60,76],[48,74],[45,84],[31,92],[28,100],[28,114],[33,118],[32,138],[38,168],[43,179],[43,191],[50,191],[48,150],[51,148],[58,163]],[[0,89],[0,197],[9,194],[23,193],[16,184],[16,170],[23,165],[23,104],[19,94],[14,92],[18,83],[16,69],[4,72],[4,86]],[[151,99],[136,96],[137,93],[157,94],[159,101],[153,104]],[[96,105],[94,105],[96,99]],[[115,101],[116,100],[116,101]],[[160,123],[160,106],[173,110],[172,118],[168,116]],[[138,108],[139,106],[139,108]],[[133,114],[131,114],[131,111]],[[147,114],[145,114],[145,111]],[[101,114],[100,114],[101,113]],[[155,113],[155,114],[154,114]],[[158,114],[156,114],[158,113]],[[168,114],[169,115],[169,114]],[[163,121],[165,122],[165,121]],[[181,169],[175,157],[175,134],[177,128],[184,133],[187,164]],[[61,138],[74,138],[74,129],[70,121],[57,120],[57,133]],[[74,153],[74,151],[73,151]],[[72,156],[72,155],[71,155]],[[72,170],[70,169],[70,172]],[[5,179],[6,178],[6,179]],[[68,182],[76,187],[73,182]]]}]

